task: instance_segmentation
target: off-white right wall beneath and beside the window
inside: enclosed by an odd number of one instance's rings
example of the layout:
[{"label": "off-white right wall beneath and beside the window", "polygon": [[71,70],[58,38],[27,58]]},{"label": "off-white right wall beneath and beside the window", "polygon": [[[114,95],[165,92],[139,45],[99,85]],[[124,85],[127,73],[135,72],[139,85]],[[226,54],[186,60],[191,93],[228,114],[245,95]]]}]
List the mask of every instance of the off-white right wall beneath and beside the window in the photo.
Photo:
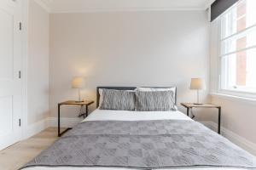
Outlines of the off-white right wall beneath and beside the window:
[{"label": "off-white right wall beneath and beside the window", "polygon": [[[256,102],[255,100],[250,101],[249,99],[241,99],[218,94],[218,20],[212,22],[210,32],[210,84],[211,94],[213,94],[212,103],[222,106],[222,127],[230,130],[232,133],[235,133],[242,138],[238,139],[237,141],[232,141],[236,142],[236,144],[245,144],[244,149],[247,149],[248,151],[256,155]],[[209,115],[208,120],[210,120],[211,122],[217,122],[218,114]]]}]

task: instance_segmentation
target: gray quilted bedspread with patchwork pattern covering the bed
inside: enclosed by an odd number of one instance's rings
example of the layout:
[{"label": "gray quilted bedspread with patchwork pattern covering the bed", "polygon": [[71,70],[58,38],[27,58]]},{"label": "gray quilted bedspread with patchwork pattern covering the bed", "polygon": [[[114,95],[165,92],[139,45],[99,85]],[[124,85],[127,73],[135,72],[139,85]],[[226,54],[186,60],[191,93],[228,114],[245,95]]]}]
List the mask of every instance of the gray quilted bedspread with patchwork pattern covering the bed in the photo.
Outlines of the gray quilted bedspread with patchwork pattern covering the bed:
[{"label": "gray quilted bedspread with patchwork pattern covering the bed", "polygon": [[25,167],[37,166],[256,169],[256,160],[198,122],[96,121],[80,123]]}]

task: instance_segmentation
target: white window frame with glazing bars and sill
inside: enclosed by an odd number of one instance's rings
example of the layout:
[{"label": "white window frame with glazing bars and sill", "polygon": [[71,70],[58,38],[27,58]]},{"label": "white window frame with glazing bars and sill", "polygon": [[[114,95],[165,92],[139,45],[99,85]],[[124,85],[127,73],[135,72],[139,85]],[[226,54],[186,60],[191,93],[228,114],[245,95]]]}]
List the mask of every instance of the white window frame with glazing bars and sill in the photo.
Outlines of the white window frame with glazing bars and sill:
[{"label": "white window frame with glazing bars and sill", "polygon": [[[237,89],[224,89],[222,88],[222,71],[221,71],[221,59],[222,59],[222,55],[221,54],[221,42],[224,41],[225,39],[229,38],[229,37],[235,37],[236,35],[240,34],[241,32],[244,32],[244,31],[247,31],[249,29],[255,29],[256,27],[256,24],[254,24],[253,26],[249,26],[247,27],[245,30],[242,30],[242,31],[238,31],[228,37],[224,37],[222,39],[222,31],[221,31],[221,18],[224,14],[230,12],[230,9],[234,8],[236,6],[236,3],[234,5],[232,5],[229,9],[227,9],[223,14],[221,14],[220,16],[218,16],[218,19],[216,19],[217,21],[217,24],[218,24],[218,42],[217,42],[217,47],[218,47],[218,80],[216,80],[216,88],[214,89],[214,87],[212,88],[212,93],[211,94],[216,94],[216,95],[219,95],[219,96],[226,96],[226,97],[231,97],[231,98],[236,98],[236,99],[249,99],[249,100],[253,100],[253,101],[256,101],[256,92],[248,92],[248,91],[242,91],[242,90],[239,90],[239,88]],[[256,46],[253,46],[253,47],[249,47],[249,48],[244,48],[242,50],[236,50],[236,52],[231,52],[231,53],[228,53],[228,54],[236,54],[238,52],[241,52],[241,51],[245,51],[245,50],[248,50],[250,48],[256,48]],[[227,55],[227,54],[225,54]]]}]

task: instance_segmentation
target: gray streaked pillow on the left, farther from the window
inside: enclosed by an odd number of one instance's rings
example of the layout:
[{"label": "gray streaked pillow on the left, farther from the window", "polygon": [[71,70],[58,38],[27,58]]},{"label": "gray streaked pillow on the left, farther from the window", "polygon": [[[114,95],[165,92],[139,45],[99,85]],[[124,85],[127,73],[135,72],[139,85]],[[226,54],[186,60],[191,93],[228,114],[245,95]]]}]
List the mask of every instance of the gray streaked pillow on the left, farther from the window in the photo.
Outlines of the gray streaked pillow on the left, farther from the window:
[{"label": "gray streaked pillow on the left, farther from the window", "polygon": [[102,89],[100,110],[135,110],[135,91]]}]

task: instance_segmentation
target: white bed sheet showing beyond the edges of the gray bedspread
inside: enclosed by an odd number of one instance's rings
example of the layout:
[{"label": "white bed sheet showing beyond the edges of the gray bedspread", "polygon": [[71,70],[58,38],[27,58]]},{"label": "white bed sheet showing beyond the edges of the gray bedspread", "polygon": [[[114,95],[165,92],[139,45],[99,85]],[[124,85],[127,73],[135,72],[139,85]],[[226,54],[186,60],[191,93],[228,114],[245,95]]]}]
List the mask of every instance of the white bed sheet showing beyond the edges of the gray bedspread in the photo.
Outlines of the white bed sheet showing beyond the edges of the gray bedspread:
[{"label": "white bed sheet showing beyond the edges of the gray bedspread", "polygon": [[[188,120],[193,121],[189,116],[185,116],[180,111],[93,111],[83,122],[88,121],[149,121],[149,120]],[[177,169],[177,168],[176,168]],[[182,168],[183,170],[238,170],[239,168],[224,167],[195,167]],[[113,167],[28,167],[26,170],[127,170],[127,168]],[[168,169],[158,169],[168,170]]]}]

